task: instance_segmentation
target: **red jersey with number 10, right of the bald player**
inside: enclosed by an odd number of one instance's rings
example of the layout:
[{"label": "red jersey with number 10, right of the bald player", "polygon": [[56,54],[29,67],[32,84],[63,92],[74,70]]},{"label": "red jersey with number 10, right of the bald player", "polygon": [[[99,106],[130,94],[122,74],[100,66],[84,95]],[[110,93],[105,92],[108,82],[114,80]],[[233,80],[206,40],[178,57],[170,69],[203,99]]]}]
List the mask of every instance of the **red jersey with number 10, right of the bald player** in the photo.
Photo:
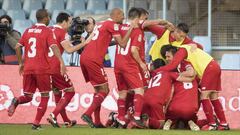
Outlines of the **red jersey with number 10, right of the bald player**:
[{"label": "red jersey with number 10, right of the bald player", "polygon": [[[122,24],[120,26],[120,34],[123,37],[126,35],[128,29],[130,28],[129,24]],[[132,56],[131,47],[136,46],[139,49],[142,48],[142,40],[143,35],[142,31],[139,28],[133,29],[128,43],[125,48],[121,48],[119,45],[116,47],[116,55],[115,55],[115,68],[118,70],[124,69],[128,71],[130,69],[138,69],[138,63]]]}]

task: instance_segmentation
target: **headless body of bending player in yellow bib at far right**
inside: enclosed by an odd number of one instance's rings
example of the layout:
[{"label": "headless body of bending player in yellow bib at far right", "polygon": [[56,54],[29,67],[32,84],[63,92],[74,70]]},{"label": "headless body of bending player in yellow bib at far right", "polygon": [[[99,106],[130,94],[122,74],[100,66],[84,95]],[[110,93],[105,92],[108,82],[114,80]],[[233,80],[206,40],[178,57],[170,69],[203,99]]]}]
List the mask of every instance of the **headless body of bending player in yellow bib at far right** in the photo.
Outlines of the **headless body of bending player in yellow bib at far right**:
[{"label": "headless body of bending player in yellow bib at far right", "polygon": [[[192,50],[191,46],[182,45],[174,55],[171,63],[160,67],[158,71],[172,71],[184,59],[192,64],[198,78],[201,80],[201,102],[209,122],[208,125],[202,127],[202,130],[229,130],[222,104],[218,99],[218,93],[221,91],[221,69],[210,55],[201,49]],[[220,121],[219,125],[214,120],[212,107]]]}]

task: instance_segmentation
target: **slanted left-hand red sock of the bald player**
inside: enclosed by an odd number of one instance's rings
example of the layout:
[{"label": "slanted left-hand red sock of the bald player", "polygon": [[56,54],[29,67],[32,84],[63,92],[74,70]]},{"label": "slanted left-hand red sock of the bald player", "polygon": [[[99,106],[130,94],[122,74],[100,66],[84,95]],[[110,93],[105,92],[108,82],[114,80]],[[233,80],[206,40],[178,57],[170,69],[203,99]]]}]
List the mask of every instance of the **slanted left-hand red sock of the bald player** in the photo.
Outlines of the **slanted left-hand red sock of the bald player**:
[{"label": "slanted left-hand red sock of the bald player", "polygon": [[94,111],[96,111],[96,109],[100,106],[101,107],[101,104],[103,102],[103,100],[105,99],[105,97],[107,96],[107,93],[105,92],[98,92],[96,94],[94,94],[93,96],[93,102],[91,104],[91,106],[88,108],[88,110],[84,113],[88,116],[91,116],[92,113]]}]

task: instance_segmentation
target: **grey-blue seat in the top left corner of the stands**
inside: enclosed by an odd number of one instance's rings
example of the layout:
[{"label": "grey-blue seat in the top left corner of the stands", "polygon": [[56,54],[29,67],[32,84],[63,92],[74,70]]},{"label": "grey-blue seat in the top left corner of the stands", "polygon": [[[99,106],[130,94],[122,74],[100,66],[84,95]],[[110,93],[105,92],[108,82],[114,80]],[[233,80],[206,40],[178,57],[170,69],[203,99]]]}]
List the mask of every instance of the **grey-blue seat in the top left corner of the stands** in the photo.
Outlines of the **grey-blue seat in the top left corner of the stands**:
[{"label": "grey-blue seat in the top left corner of the stands", "polygon": [[20,10],[21,7],[21,1],[20,0],[3,0],[2,9],[5,11],[8,10]]}]

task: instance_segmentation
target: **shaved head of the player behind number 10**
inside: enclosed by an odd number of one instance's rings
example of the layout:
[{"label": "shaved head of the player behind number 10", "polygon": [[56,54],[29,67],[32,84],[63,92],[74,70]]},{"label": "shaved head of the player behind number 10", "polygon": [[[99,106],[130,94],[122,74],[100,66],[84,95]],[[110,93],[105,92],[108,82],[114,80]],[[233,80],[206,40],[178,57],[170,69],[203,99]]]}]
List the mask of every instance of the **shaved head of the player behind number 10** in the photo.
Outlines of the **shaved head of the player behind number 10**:
[{"label": "shaved head of the player behind number 10", "polygon": [[124,13],[123,10],[120,8],[114,8],[112,9],[110,13],[111,19],[116,23],[122,23],[124,20]]}]

